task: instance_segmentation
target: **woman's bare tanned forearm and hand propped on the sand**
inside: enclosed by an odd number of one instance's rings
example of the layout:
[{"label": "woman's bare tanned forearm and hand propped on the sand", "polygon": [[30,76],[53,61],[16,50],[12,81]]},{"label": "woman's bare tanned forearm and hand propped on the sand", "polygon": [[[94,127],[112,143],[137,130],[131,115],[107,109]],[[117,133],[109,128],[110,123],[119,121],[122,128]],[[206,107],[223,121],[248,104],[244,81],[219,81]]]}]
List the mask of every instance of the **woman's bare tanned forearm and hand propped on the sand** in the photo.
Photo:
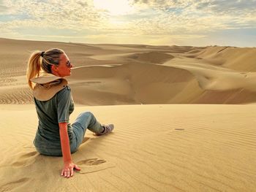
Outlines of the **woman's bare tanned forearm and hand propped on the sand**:
[{"label": "woman's bare tanned forearm and hand propped on the sand", "polygon": [[80,171],[80,168],[72,163],[69,136],[67,134],[67,123],[59,123],[59,135],[61,137],[61,150],[64,161],[64,168],[62,169],[61,176],[70,177],[73,176],[73,169]]}]

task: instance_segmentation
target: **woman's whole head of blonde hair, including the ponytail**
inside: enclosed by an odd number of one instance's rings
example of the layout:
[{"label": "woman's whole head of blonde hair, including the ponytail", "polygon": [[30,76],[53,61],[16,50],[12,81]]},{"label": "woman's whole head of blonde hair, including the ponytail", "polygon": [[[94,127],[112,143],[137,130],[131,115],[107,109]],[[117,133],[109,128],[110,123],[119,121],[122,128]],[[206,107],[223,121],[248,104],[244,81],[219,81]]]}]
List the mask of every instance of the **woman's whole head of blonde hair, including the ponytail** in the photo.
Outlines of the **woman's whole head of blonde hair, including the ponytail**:
[{"label": "woman's whole head of blonde hair, including the ponytail", "polygon": [[63,50],[54,48],[45,52],[37,50],[30,55],[28,68],[26,70],[26,77],[29,83],[29,88],[33,89],[31,79],[38,77],[41,70],[47,73],[52,73],[51,66],[59,65],[59,57],[63,53]]}]

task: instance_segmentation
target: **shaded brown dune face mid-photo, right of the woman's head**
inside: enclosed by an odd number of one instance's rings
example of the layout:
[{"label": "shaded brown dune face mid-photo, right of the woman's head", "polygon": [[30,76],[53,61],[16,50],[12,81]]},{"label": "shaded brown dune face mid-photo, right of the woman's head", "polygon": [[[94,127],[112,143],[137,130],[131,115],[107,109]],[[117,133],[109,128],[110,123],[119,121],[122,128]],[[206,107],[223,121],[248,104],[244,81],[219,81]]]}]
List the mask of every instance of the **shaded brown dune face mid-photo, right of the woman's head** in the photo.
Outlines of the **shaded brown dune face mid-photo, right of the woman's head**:
[{"label": "shaded brown dune face mid-photo, right of the woman's head", "polygon": [[73,97],[83,104],[90,104],[95,95],[102,104],[168,102],[172,94],[182,90],[193,78],[183,69],[153,64],[89,66],[74,69],[72,74],[69,84],[74,91]]}]

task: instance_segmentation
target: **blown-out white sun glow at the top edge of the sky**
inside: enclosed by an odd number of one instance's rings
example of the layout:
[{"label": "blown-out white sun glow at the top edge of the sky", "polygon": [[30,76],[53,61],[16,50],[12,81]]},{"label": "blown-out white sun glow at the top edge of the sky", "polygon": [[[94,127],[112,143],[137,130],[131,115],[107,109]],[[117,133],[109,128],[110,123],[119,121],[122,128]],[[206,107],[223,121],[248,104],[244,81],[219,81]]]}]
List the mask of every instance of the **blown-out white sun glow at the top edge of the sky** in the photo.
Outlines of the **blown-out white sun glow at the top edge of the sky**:
[{"label": "blown-out white sun glow at the top edge of the sky", "polygon": [[132,11],[128,0],[94,0],[94,7],[107,10],[110,15],[124,15]]}]

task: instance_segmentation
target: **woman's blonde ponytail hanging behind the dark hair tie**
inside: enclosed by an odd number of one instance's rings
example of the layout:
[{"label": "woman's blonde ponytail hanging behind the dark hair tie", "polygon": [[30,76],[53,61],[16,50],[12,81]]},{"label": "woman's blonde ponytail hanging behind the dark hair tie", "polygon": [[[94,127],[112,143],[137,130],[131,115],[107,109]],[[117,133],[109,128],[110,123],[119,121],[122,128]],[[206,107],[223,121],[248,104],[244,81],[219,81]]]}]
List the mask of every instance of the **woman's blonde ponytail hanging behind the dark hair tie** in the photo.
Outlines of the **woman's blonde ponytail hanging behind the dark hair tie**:
[{"label": "woman's blonde ponytail hanging behind the dark hair tie", "polygon": [[29,88],[33,89],[31,79],[39,76],[41,69],[41,51],[36,51],[30,55],[26,77],[29,83]]}]

